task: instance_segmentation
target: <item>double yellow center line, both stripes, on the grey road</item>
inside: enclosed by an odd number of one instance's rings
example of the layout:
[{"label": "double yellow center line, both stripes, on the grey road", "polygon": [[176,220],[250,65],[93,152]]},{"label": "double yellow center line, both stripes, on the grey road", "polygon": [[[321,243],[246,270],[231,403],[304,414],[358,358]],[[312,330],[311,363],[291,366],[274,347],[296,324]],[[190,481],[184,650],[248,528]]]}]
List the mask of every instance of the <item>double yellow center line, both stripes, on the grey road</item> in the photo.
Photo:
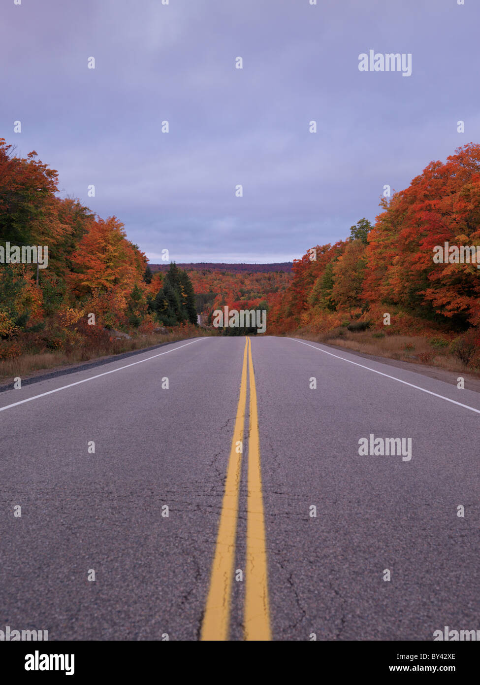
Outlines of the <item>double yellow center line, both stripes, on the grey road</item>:
[{"label": "double yellow center line, both stripes, on the grey road", "polygon": [[235,563],[235,543],[238,522],[238,493],[242,469],[244,423],[247,408],[247,359],[249,368],[249,447],[247,495],[247,563],[244,606],[244,638],[270,640],[270,610],[268,606],[268,575],[265,545],[262,470],[258,434],[257,390],[250,338],[246,338],[243,353],[240,397],[231,440],[230,457],[225,481],[220,523],[210,589],[203,616],[202,640],[228,640],[231,584]]}]

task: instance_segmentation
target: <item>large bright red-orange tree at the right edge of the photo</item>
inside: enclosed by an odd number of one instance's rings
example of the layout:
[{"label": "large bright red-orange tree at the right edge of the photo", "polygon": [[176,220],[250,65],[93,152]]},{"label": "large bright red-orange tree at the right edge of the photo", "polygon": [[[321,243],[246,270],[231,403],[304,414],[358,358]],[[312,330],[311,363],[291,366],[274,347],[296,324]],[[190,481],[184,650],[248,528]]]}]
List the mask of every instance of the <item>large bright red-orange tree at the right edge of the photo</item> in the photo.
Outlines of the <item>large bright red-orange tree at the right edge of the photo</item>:
[{"label": "large bright red-orange tree at the right edge of the photo", "polygon": [[435,264],[433,248],[480,245],[480,145],[431,162],[390,202],[370,232],[364,297],[453,327],[480,323],[476,264]]}]

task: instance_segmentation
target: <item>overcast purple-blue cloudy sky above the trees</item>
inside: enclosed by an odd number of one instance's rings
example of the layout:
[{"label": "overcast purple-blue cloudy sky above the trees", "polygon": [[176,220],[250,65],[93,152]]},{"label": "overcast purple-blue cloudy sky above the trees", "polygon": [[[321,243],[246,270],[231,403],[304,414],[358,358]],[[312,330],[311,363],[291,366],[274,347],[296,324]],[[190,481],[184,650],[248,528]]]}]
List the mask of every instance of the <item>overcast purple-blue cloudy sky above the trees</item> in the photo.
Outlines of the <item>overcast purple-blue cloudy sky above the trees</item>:
[{"label": "overcast purple-blue cloudy sky above the trees", "polygon": [[[151,262],[299,258],[480,141],[478,0],[14,1],[0,136]],[[359,71],[370,49],[412,75]]]}]

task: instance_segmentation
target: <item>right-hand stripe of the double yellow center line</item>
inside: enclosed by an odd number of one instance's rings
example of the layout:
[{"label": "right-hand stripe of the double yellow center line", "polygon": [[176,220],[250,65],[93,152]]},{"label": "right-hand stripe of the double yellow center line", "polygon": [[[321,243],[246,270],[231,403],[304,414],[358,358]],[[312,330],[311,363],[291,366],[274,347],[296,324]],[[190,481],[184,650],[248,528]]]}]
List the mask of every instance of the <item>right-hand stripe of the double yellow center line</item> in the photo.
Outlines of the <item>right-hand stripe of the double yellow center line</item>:
[{"label": "right-hand stripe of the double yellow center line", "polygon": [[270,640],[268,571],[266,561],[260,438],[258,434],[257,390],[249,340],[250,432],[247,498],[247,587],[245,593],[246,640]]}]

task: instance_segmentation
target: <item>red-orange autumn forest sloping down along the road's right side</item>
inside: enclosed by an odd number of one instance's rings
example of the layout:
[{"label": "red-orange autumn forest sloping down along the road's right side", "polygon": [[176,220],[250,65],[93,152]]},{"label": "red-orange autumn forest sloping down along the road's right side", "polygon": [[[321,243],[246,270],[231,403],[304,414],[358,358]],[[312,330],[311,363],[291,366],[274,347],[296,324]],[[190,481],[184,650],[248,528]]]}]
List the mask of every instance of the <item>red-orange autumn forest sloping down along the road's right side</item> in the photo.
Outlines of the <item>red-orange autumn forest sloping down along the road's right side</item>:
[{"label": "red-orange autumn forest sloping down along the road's right side", "polygon": [[[292,284],[272,302],[268,332],[362,349],[349,340],[370,330],[364,351],[386,352],[381,338],[397,336],[405,358],[432,362],[449,352],[478,369],[480,271],[476,263],[434,257],[447,242],[480,245],[480,145],[431,162],[408,188],[382,197],[380,210],[374,225],[360,219],[344,240],[294,260]],[[428,344],[407,340],[412,336]]]}]

